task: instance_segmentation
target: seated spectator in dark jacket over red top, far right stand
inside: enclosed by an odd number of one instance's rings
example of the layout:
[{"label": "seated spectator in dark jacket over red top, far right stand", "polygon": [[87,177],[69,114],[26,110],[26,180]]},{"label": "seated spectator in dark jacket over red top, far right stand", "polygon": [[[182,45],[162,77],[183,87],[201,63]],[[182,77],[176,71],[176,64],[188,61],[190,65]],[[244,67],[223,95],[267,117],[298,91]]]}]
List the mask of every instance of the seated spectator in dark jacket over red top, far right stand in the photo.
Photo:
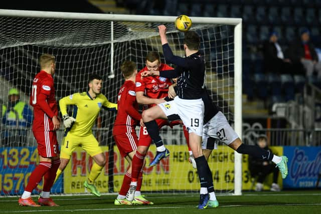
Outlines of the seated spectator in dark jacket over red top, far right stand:
[{"label": "seated spectator in dark jacket over red top, far right stand", "polygon": [[317,73],[317,78],[321,80],[321,63],[318,61],[313,44],[310,42],[310,33],[307,29],[301,31],[301,38],[293,42],[289,47],[291,61],[301,64],[308,79],[312,78],[313,72]]}]

